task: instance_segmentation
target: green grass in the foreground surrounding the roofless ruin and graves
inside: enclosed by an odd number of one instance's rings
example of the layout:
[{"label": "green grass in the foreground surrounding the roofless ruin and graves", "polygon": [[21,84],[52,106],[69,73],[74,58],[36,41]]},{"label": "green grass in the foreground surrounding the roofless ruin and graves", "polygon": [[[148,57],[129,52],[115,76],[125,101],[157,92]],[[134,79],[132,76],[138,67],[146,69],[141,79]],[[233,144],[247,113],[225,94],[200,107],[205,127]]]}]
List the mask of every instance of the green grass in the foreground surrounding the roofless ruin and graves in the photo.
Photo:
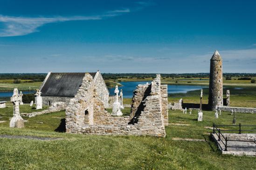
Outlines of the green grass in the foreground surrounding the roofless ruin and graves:
[{"label": "green grass in the foreground surrounding the roofless ruin and graves", "polygon": [[[254,170],[256,157],[221,155],[209,138],[212,130],[205,126],[231,124],[232,115],[222,112],[219,119],[213,111],[204,111],[203,122],[197,122],[197,113],[183,114],[169,111],[166,138],[134,136],[95,136],[56,132],[65,112],[55,112],[34,118],[25,118],[24,129],[8,128],[12,105],[0,109],[0,134],[58,137],[59,140],[0,138],[0,169],[155,169],[155,170]],[[32,111],[28,105],[21,111]],[[236,114],[237,123],[256,124],[255,114]],[[41,122],[41,123],[38,123]],[[43,122],[43,123],[42,123]],[[178,126],[175,124],[187,124]],[[206,142],[176,141],[174,137],[205,139]]]}]

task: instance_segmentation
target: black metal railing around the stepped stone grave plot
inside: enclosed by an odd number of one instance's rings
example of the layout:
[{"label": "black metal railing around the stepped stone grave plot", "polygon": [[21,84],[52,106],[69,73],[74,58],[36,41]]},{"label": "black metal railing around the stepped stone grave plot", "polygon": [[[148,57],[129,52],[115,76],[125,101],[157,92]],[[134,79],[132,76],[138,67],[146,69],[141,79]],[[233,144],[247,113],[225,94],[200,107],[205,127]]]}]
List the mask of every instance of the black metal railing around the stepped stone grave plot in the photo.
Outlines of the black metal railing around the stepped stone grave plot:
[{"label": "black metal railing around the stepped stone grave plot", "polygon": [[[222,127],[222,126],[239,126],[239,130],[221,130],[219,127]],[[228,139],[228,137],[225,137],[221,131],[232,131],[232,132],[235,132],[235,131],[238,131],[238,134],[241,134],[243,131],[256,131],[256,130],[242,130],[242,127],[256,127],[256,125],[242,125],[242,124],[239,124],[239,125],[216,125],[216,124],[213,124],[213,134],[217,134],[218,135],[218,141],[221,141],[222,144],[224,144],[225,146],[225,151],[228,150],[228,147],[229,148],[256,148],[256,147],[238,147],[238,146],[228,146],[228,141],[237,141],[237,142],[249,142],[249,141],[244,141],[244,140],[230,140]],[[217,132],[216,132],[217,131]],[[223,137],[225,139],[225,142],[221,139],[221,137]],[[219,146],[221,147],[221,144],[219,144]],[[223,150],[223,148],[221,147],[221,150]]]}]

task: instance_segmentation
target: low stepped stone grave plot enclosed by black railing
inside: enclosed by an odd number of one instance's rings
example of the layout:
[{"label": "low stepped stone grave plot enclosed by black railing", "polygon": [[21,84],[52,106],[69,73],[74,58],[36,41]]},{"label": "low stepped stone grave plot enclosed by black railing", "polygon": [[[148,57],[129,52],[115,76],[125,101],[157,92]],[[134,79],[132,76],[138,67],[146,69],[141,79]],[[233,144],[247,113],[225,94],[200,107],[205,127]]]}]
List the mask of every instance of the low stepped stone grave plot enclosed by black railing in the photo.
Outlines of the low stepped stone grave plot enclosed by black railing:
[{"label": "low stepped stone grave plot enclosed by black railing", "polygon": [[256,134],[255,133],[223,133],[224,137],[227,137],[227,150],[225,150],[225,139],[221,136],[221,141],[218,141],[218,134],[211,133],[211,137],[214,139],[219,150],[222,154],[238,155],[238,156],[256,156]]}]

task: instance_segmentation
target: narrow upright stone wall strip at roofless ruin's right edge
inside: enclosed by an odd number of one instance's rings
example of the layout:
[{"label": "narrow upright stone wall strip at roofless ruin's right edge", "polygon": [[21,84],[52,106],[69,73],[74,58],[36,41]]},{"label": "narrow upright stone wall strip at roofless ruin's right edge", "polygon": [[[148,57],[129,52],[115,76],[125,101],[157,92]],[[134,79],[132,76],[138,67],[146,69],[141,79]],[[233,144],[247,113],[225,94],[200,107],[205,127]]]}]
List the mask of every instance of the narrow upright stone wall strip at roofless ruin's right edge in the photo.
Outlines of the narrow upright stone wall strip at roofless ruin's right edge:
[{"label": "narrow upright stone wall strip at roofless ruin's right edge", "polygon": [[168,92],[167,85],[161,85],[161,98],[162,98],[162,115],[164,123],[168,126]]}]

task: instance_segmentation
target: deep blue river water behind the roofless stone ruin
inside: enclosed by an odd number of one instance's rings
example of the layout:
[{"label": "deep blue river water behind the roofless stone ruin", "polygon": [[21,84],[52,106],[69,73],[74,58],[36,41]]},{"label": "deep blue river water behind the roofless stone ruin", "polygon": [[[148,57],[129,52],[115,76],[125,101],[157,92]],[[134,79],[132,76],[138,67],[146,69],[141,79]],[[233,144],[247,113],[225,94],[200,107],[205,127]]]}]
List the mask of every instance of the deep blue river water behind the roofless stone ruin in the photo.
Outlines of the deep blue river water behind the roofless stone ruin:
[{"label": "deep blue river water behind the roofless stone ruin", "polygon": [[[151,82],[148,82],[151,83]],[[123,85],[119,87],[123,89],[123,96],[124,98],[132,98],[133,91],[135,90],[136,86],[139,84],[146,84],[146,81],[129,81],[129,82],[121,82]],[[201,86],[201,85],[168,85],[168,94],[171,93],[187,93],[188,91],[200,90],[202,88],[207,88],[208,86]],[[109,89],[110,95],[114,94],[115,88]]]}]

